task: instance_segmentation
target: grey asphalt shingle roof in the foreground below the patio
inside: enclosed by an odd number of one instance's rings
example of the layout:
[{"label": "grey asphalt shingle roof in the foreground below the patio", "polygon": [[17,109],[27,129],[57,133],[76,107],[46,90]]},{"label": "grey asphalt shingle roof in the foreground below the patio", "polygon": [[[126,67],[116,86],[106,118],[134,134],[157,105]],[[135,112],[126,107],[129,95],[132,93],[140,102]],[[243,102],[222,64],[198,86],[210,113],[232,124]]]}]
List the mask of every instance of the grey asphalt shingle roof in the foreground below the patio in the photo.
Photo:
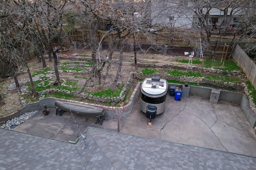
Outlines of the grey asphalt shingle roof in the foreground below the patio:
[{"label": "grey asphalt shingle roof in the foreground below the patio", "polygon": [[246,169],[256,158],[123,134],[98,128],[86,130],[86,145],[0,129],[0,169]]}]

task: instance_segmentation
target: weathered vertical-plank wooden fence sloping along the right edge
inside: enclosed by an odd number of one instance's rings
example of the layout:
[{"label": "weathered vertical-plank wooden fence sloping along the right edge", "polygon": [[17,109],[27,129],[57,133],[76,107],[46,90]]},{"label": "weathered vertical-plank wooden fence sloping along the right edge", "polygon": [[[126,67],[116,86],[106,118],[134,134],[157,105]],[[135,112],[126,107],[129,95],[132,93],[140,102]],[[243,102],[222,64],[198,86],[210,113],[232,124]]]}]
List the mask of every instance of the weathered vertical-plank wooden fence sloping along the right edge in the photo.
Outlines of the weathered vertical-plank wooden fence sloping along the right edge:
[{"label": "weathered vertical-plank wooden fence sloping along the right edge", "polygon": [[256,89],[256,64],[254,61],[248,57],[248,55],[238,44],[236,44],[232,57],[234,61],[236,61],[236,63],[241,67],[248,80]]}]

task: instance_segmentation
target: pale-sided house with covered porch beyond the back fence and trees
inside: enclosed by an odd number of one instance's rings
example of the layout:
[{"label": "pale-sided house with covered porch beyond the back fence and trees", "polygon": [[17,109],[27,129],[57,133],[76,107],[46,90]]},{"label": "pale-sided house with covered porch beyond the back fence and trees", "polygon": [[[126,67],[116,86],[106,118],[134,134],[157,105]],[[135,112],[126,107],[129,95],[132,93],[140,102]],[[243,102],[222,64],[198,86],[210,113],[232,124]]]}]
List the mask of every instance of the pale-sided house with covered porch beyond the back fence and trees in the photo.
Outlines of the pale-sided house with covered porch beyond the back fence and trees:
[{"label": "pale-sided house with covered porch beyond the back fence and trees", "polygon": [[[151,7],[152,26],[165,26],[176,28],[193,28],[193,22],[198,23],[195,16],[194,5],[187,0],[154,0]],[[238,16],[241,9],[228,8],[226,14],[223,10],[212,8],[206,18],[206,25],[216,27],[216,25],[238,22]],[[206,14],[207,9],[203,9]],[[226,18],[226,20],[224,20]],[[222,23],[223,22],[223,23]]]}]

